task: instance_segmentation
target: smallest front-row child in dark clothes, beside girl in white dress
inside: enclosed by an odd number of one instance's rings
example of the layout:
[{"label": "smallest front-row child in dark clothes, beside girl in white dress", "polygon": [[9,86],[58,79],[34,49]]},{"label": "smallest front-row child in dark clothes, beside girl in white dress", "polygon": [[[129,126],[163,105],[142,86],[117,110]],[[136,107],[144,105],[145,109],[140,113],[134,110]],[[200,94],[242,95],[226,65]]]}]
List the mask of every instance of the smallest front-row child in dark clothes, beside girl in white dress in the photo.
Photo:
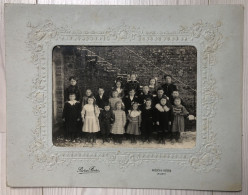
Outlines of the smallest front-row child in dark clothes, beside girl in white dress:
[{"label": "smallest front-row child in dark clothes, beside girl in white dress", "polygon": [[115,121],[115,115],[110,109],[109,103],[105,103],[104,110],[99,115],[102,142],[109,142],[109,133]]}]

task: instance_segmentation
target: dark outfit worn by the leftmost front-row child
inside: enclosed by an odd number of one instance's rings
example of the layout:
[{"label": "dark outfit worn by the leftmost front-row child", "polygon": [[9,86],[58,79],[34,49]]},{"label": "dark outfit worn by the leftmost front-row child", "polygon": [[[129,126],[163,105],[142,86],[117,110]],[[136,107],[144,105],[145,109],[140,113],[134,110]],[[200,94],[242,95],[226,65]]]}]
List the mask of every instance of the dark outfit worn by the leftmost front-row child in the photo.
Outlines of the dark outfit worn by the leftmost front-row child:
[{"label": "dark outfit worn by the leftmost front-row child", "polygon": [[77,101],[74,105],[66,102],[63,110],[63,119],[65,119],[65,135],[66,137],[75,136],[80,132],[81,105]]}]

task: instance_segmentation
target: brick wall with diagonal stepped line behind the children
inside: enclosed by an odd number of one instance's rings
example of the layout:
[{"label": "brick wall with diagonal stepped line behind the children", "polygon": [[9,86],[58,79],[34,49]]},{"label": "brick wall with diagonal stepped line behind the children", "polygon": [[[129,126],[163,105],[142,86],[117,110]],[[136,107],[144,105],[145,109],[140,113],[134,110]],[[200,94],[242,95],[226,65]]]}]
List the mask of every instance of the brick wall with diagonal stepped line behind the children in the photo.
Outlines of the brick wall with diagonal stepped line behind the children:
[{"label": "brick wall with diagonal stepped line behind the children", "polygon": [[[109,92],[117,75],[136,73],[142,84],[151,77],[164,83],[165,73],[173,76],[173,82],[187,104],[190,113],[196,113],[195,93],[197,51],[192,46],[60,46],[53,52],[56,66],[55,98],[56,120],[61,120],[62,90],[69,85],[69,77],[75,76],[82,93],[87,88],[97,92],[103,86]],[[177,80],[181,81],[178,82]]]}]

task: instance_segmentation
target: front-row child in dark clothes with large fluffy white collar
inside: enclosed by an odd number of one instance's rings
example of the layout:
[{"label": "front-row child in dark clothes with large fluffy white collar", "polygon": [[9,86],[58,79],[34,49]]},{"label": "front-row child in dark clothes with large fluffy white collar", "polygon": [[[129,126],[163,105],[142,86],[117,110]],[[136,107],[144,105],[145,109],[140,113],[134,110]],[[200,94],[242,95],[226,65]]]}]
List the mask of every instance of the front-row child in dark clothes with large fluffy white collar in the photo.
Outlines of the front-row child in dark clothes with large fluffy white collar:
[{"label": "front-row child in dark clothes with large fluffy white collar", "polygon": [[169,125],[171,124],[171,109],[166,105],[167,97],[163,96],[155,106],[155,121],[158,127],[158,142],[165,144],[165,138],[169,137]]}]

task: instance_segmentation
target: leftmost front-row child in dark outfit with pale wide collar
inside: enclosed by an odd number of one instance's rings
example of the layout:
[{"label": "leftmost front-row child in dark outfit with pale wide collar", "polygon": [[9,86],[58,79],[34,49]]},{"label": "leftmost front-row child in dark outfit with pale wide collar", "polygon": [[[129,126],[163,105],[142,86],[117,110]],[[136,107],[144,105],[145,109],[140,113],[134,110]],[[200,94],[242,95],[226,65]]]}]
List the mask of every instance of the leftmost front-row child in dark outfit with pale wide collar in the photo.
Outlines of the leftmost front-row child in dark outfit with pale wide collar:
[{"label": "leftmost front-row child in dark outfit with pale wide collar", "polygon": [[63,120],[65,121],[65,136],[75,142],[80,128],[80,103],[76,100],[76,94],[69,94],[69,101],[65,102]]}]

